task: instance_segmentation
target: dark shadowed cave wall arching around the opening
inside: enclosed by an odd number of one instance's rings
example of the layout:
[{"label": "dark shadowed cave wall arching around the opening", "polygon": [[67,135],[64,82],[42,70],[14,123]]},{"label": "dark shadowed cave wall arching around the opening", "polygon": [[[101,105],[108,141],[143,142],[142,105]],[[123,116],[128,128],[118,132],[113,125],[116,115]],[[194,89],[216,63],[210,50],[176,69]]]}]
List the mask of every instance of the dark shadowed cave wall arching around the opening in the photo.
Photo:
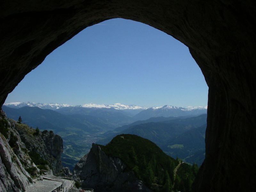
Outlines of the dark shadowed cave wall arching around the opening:
[{"label": "dark shadowed cave wall arching around the opening", "polygon": [[[206,155],[196,191],[252,191],[256,182],[255,1],[3,1],[0,106],[56,47],[111,18],[158,28],[189,47],[209,86]],[[86,42],[85,42],[86,43]]]}]

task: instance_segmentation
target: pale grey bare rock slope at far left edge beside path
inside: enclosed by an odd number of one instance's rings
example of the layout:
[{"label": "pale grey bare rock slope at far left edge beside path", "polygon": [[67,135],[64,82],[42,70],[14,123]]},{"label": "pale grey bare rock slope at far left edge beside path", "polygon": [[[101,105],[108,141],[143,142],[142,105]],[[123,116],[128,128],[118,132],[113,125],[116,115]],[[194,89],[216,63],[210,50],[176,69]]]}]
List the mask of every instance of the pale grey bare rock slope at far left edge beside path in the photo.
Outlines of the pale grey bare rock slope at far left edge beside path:
[{"label": "pale grey bare rock slope at far left edge beside path", "polygon": [[[0,111],[0,113],[0,191],[25,191],[32,179],[23,164],[26,162],[30,166],[35,167],[35,165],[31,164],[29,156],[21,150],[25,145],[20,140],[13,143],[15,147],[10,146],[11,135],[12,137],[19,137],[11,128],[4,112]],[[8,128],[8,131],[4,130],[5,128]]]}]

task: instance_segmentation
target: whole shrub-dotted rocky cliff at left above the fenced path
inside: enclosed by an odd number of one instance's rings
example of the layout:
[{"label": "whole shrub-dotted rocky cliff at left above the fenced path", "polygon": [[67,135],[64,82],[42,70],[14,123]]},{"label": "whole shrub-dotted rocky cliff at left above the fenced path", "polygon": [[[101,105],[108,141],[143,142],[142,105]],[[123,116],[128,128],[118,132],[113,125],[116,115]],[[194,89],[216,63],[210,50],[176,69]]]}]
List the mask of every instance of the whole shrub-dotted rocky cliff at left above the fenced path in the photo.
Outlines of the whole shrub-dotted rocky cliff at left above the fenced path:
[{"label": "whole shrub-dotted rocky cliff at left above the fenced path", "polygon": [[62,139],[52,132],[33,135],[35,132],[8,119],[0,110],[0,192],[25,191],[32,178],[39,175],[30,152],[48,162],[53,172],[60,171]]}]

